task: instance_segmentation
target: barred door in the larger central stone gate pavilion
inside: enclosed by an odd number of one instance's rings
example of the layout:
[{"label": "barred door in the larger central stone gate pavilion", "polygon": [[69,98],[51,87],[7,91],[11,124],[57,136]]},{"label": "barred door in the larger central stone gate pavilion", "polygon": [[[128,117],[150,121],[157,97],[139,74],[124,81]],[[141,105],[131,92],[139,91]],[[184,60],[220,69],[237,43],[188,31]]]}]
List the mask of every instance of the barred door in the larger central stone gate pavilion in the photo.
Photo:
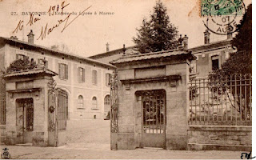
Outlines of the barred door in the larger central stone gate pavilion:
[{"label": "barred door in the larger central stone gate pavilion", "polygon": [[142,91],[142,146],[166,146],[166,91]]}]

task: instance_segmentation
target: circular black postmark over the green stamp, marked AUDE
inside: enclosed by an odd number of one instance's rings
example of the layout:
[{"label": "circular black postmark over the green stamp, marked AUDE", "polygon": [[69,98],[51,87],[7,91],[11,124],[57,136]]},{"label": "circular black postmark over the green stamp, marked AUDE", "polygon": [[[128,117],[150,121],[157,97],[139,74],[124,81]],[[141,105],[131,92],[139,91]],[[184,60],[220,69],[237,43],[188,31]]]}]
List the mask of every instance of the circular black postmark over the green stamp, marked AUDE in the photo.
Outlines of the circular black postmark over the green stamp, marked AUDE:
[{"label": "circular black postmark over the green stamp, marked AUDE", "polygon": [[214,34],[226,35],[238,31],[246,6],[242,0],[202,0],[202,22]]}]

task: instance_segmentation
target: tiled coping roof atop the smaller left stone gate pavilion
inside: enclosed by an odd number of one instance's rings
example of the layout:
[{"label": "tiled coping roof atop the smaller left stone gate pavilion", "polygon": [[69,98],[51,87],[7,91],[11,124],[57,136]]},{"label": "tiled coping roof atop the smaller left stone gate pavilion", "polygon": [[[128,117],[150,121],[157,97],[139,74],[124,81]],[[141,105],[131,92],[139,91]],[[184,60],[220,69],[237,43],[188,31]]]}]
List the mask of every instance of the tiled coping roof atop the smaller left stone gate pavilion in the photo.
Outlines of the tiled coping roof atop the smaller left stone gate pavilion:
[{"label": "tiled coping roof atop the smaller left stone gate pavilion", "polygon": [[8,74],[3,74],[2,78],[10,78],[10,77],[15,77],[15,76],[21,76],[21,75],[29,75],[29,74],[50,74],[50,75],[58,75],[52,70],[48,70],[46,68],[40,68],[40,69],[33,69],[33,70],[21,70],[21,71],[16,71],[16,72],[11,72]]}]

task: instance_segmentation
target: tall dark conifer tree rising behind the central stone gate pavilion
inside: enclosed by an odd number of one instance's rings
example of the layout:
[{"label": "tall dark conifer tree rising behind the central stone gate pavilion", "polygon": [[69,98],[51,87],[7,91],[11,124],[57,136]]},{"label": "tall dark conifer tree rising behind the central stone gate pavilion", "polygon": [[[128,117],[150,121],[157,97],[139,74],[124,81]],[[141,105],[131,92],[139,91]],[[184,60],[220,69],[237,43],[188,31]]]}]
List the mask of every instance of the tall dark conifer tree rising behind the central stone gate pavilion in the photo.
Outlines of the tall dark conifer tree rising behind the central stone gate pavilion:
[{"label": "tall dark conifer tree rising behind the central stone gate pavilion", "polygon": [[150,15],[150,20],[143,19],[137,38],[133,38],[133,41],[136,44],[135,48],[145,54],[173,49],[177,35],[177,27],[170,23],[166,6],[158,1],[154,6],[154,13]]}]

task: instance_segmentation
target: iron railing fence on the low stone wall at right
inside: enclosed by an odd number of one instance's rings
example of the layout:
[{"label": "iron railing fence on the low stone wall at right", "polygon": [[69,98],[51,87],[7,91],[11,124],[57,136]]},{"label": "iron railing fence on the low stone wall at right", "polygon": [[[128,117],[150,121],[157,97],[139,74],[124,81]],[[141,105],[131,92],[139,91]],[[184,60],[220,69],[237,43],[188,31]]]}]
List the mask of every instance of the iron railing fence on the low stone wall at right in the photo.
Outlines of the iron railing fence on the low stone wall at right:
[{"label": "iron railing fence on the low stone wall at right", "polygon": [[190,125],[252,125],[250,74],[190,80]]}]

